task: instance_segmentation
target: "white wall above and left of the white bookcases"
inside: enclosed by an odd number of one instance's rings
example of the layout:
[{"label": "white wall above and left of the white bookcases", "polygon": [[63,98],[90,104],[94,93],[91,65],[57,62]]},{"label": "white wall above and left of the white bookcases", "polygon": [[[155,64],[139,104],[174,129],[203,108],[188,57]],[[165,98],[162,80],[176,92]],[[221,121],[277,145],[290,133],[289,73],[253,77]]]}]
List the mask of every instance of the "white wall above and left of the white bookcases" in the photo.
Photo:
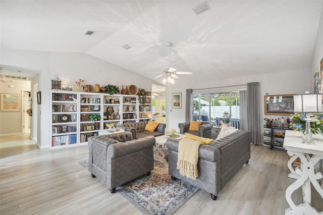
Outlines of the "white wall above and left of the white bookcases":
[{"label": "white wall above and left of the white bookcases", "polygon": [[[32,85],[38,84],[38,90],[41,91],[41,104],[37,105],[37,144],[40,148],[49,147],[49,114],[51,113],[49,91],[50,80],[55,77],[55,74],[59,74],[62,80],[73,83],[81,78],[84,80],[84,84],[100,84],[102,86],[113,84],[119,87],[134,84],[146,91],[151,91],[151,84],[157,84],[155,81],[86,53],[1,49],[1,56],[4,65],[39,71],[39,75],[32,81]],[[75,85],[74,89],[81,91]]]}]

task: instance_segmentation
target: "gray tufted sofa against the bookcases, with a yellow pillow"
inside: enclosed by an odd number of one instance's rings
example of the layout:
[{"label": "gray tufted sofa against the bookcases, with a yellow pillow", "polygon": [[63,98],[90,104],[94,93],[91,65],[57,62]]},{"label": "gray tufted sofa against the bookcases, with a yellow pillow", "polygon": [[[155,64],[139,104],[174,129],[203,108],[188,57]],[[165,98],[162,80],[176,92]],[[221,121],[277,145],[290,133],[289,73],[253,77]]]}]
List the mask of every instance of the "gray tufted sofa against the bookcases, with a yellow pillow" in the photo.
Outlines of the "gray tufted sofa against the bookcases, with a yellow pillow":
[{"label": "gray tufted sofa against the bookcases, with a yellow pillow", "polygon": [[145,127],[147,125],[148,121],[144,122],[135,122],[135,123],[125,123],[125,124],[119,124],[117,125],[117,128],[124,129],[125,131],[130,131],[132,133],[132,137],[134,139],[138,139],[141,137],[147,137],[147,136],[161,136],[165,135],[165,128],[166,124],[159,123],[157,128],[153,131],[145,131]]}]

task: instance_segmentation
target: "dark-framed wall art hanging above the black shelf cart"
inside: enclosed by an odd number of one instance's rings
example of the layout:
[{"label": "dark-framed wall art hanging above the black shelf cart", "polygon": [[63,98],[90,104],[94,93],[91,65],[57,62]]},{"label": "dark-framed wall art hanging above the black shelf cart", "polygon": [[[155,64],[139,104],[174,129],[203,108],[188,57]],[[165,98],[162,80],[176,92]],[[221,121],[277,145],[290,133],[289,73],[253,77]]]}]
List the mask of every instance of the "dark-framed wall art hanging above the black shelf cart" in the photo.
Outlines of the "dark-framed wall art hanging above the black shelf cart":
[{"label": "dark-framed wall art hanging above the black shelf cart", "polygon": [[290,115],[294,113],[294,95],[265,95],[265,115]]}]

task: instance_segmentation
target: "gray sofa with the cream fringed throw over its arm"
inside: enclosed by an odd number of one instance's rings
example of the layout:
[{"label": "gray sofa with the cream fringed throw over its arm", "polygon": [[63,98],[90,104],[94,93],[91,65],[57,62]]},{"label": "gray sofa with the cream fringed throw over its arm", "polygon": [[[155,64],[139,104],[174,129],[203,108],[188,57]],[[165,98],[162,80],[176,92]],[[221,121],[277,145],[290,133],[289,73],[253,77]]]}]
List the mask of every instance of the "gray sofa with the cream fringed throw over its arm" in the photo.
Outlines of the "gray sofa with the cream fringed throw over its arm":
[{"label": "gray sofa with the cream fringed throw over its arm", "polygon": [[180,179],[211,193],[217,199],[220,190],[235,176],[250,158],[250,132],[238,130],[228,136],[200,145],[196,180],[181,176],[177,168],[179,140],[169,138],[169,174],[173,180]]}]

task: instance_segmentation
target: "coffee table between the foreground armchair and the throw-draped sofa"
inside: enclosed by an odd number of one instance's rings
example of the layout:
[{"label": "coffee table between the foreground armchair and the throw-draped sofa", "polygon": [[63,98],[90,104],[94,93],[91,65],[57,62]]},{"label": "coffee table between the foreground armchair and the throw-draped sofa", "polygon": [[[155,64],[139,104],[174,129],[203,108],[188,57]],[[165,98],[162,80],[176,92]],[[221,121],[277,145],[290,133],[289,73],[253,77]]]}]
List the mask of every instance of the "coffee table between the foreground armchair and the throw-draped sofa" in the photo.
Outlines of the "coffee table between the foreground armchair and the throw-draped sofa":
[{"label": "coffee table between the foreground armchair and the throw-draped sofa", "polygon": [[[175,139],[183,139],[185,138],[184,134],[176,134],[179,135],[179,137],[176,137]],[[163,136],[158,136],[155,137],[156,139],[156,144],[153,147],[153,150],[156,151],[157,153],[153,154],[153,158],[157,160],[158,162],[161,163],[167,163],[168,162],[168,148],[166,147],[166,141],[167,139],[170,138],[167,135]]]}]

